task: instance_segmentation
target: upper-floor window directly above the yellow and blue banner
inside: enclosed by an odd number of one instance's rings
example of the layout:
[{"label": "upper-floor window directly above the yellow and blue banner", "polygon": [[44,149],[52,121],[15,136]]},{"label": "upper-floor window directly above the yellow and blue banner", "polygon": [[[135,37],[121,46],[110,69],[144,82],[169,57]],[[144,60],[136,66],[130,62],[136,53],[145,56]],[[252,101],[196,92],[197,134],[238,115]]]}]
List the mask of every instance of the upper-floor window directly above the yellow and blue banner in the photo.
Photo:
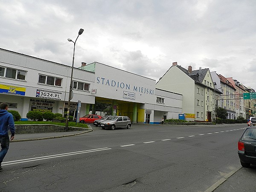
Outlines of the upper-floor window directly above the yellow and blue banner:
[{"label": "upper-floor window directly above the yellow and blue banner", "polygon": [[0,76],[10,79],[26,79],[26,71],[16,70],[8,67],[0,67]]}]

